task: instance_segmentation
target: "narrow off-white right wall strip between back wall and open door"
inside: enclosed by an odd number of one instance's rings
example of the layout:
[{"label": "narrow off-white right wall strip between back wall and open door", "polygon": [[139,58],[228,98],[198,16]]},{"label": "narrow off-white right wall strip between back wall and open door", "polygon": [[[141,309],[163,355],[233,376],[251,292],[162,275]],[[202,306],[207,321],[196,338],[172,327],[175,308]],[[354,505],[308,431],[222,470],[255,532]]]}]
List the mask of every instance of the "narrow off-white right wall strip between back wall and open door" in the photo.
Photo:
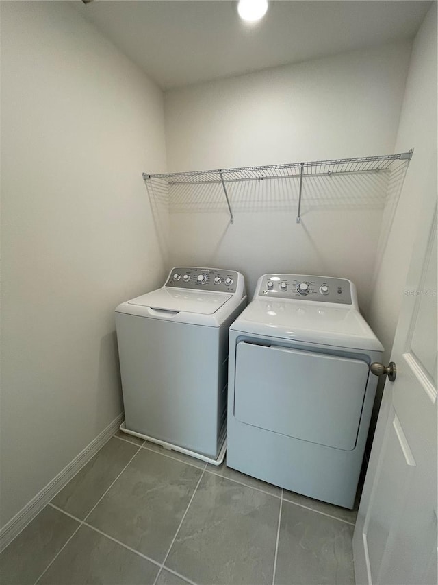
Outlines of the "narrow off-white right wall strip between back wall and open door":
[{"label": "narrow off-white right wall strip between back wall and open door", "polygon": [[426,182],[428,170],[437,169],[437,3],[413,43],[396,151],[407,146],[414,148],[414,154],[378,259],[380,270],[369,311],[370,324],[385,346],[385,359],[391,354],[422,195],[433,188]]}]

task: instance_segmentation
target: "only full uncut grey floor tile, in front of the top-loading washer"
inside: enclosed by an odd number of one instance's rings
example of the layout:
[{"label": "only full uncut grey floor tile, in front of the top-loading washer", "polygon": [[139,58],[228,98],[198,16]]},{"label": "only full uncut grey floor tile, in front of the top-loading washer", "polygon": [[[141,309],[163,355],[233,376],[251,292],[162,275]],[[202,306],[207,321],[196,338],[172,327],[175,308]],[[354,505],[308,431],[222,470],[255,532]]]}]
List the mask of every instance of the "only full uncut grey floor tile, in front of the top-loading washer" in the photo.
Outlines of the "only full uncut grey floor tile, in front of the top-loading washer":
[{"label": "only full uncut grey floor tile, in front of the top-loading washer", "polygon": [[87,522],[162,562],[201,473],[141,449]]}]

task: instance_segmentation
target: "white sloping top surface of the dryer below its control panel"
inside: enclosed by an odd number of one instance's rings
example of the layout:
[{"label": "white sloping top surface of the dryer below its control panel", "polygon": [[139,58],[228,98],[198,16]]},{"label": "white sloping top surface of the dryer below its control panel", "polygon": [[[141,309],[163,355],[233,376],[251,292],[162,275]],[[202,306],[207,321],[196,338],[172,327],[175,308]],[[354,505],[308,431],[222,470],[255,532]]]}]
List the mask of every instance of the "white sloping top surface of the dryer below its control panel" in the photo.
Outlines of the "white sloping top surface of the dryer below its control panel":
[{"label": "white sloping top surface of the dryer below its control panel", "polygon": [[357,309],[328,303],[256,298],[231,329],[281,339],[383,351],[381,342]]}]

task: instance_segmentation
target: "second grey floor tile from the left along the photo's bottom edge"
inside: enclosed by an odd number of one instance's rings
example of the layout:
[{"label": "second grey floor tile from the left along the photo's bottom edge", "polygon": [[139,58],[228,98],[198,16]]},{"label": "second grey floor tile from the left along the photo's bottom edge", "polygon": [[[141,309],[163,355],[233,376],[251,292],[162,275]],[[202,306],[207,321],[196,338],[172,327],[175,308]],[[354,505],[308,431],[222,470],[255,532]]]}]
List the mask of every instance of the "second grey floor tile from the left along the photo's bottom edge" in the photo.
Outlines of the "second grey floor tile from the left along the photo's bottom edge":
[{"label": "second grey floor tile from the left along the photo's bottom edge", "polygon": [[152,585],[158,571],[149,560],[81,526],[38,585]]}]

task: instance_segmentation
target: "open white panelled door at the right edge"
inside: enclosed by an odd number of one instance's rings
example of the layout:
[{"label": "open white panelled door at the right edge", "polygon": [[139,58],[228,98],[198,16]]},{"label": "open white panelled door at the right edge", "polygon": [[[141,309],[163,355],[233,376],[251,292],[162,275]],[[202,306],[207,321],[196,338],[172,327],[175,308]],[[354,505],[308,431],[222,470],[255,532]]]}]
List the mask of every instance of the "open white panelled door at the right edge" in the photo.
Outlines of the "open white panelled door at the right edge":
[{"label": "open white panelled door at the right edge", "polygon": [[357,585],[437,584],[434,196],[425,207],[391,354],[396,380],[385,383],[353,537]]}]

